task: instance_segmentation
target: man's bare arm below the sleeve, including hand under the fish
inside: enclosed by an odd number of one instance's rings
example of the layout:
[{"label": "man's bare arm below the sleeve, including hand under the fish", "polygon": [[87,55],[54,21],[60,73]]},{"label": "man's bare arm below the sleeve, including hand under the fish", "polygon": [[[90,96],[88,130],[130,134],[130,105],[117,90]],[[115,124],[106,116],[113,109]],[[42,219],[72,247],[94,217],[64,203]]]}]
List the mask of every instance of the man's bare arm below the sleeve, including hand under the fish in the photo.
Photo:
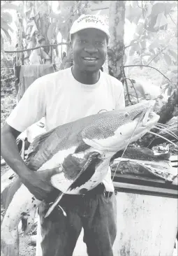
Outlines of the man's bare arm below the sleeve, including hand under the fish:
[{"label": "man's bare arm below the sleeve, including hand under the fish", "polygon": [[10,168],[20,176],[22,183],[37,199],[54,201],[59,191],[50,185],[50,177],[58,173],[58,169],[40,172],[31,171],[20,156],[16,138],[20,131],[13,129],[7,123],[1,129],[1,155]]}]

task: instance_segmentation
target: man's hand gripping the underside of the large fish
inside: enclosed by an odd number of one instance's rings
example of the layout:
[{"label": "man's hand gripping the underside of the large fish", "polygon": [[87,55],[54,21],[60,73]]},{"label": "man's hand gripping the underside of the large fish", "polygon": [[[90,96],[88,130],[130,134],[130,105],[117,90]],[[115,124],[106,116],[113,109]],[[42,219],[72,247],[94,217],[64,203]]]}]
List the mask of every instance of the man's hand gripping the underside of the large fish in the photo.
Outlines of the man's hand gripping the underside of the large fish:
[{"label": "man's hand gripping the underside of the large fish", "polygon": [[53,202],[59,195],[59,190],[52,187],[50,178],[61,172],[61,168],[54,168],[45,171],[28,171],[28,176],[21,177],[22,183],[28,188],[31,194],[38,200]]}]

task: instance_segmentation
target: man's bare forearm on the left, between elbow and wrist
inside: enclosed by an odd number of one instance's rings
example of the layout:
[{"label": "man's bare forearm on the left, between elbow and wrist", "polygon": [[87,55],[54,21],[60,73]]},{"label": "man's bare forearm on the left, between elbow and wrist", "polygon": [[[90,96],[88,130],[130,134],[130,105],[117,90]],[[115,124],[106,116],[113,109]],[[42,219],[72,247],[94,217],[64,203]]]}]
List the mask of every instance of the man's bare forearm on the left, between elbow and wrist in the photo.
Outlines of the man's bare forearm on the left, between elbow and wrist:
[{"label": "man's bare forearm on the left, between elbow and wrist", "polygon": [[1,134],[1,156],[18,176],[22,178],[28,176],[30,170],[20,156],[16,138],[8,131],[3,131]]}]

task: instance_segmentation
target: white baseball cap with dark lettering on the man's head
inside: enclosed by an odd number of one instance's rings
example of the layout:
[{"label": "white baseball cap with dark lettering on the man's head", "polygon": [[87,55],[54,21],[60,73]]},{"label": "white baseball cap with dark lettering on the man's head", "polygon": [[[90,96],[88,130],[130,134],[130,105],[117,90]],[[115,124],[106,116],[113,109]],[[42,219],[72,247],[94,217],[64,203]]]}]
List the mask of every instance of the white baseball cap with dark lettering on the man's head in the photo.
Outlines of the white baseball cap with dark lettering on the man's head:
[{"label": "white baseball cap with dark lettering on the man's head", "polygon": [[73,25],[70,30],[70,41],[71,41],[71,34],[75,34],[76,32],[82,29],[99,29],[103,31],[109,40],[110,32],[109,27],[103,21],[102,17],[99,15],[81,15],[80,17],[73,22]]}]

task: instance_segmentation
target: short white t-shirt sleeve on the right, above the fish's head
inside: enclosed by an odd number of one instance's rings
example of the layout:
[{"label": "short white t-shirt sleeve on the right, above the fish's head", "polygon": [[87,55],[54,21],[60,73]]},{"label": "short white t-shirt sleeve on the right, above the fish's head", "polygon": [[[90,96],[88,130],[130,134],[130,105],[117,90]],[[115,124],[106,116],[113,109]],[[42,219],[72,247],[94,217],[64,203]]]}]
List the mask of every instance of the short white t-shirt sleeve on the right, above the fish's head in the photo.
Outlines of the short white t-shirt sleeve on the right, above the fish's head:
[{"label": "short white t-shirt sleeve on the right, above the fish's head", "polygon": [[124,86],[119,80],[117,80],[117,83],[115,83],[114,94],[116,99],[115,109],[124,108],[125,107]]}]

